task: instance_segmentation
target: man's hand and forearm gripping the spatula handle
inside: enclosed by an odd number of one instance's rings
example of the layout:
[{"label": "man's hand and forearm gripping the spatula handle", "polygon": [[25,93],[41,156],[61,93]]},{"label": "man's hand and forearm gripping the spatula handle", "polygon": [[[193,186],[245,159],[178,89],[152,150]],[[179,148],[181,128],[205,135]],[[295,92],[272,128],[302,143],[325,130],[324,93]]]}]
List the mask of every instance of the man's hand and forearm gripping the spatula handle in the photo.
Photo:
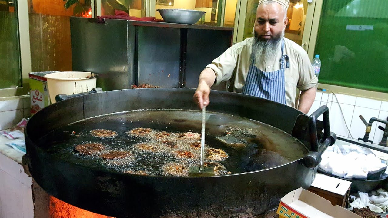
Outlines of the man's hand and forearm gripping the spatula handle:
[{"label": "man's hand and forearm gripping the spatula handle", "polygon": [[211,68],[205,68],[199,75],[198,87],[193,96],[199,108],[203,109],[209,105],[210,87],[214,84],[215,79],[216,74]]}]

